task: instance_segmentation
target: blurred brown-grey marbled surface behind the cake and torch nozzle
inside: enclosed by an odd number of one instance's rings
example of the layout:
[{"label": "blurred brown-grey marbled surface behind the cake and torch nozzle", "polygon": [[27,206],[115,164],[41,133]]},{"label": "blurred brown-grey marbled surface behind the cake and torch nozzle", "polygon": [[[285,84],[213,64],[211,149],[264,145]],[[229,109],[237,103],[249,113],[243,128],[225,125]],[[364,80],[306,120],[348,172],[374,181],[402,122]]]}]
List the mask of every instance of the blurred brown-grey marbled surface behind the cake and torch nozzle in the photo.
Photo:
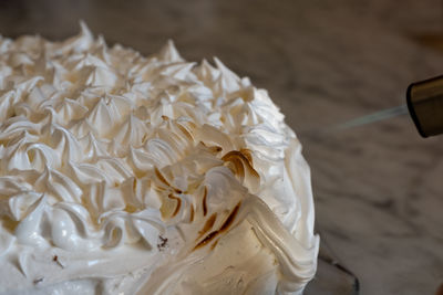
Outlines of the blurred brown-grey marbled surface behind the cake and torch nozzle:
[{"label": "blurred brown-grey marbled surface behind the cake and torch nozzle", "polygon": [[185,59],[218,56],[267,88],[311,166],[317,231],[361,294],[443,283],[443,136],[422,139],[409,116],[313,131],[403,104],[410,83],[443,74],[443,1],[0,1],[8,38],[62,40],[81,19],[110,45],[151,54],[173,39]]}]

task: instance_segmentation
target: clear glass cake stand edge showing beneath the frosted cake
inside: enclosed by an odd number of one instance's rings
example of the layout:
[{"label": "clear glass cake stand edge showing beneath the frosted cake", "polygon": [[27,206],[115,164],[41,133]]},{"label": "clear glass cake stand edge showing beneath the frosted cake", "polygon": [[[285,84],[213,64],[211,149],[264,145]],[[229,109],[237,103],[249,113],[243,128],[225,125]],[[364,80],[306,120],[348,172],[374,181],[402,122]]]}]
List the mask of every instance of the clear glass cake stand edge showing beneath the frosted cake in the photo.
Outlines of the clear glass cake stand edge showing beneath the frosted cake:
[{"label": "clear glass cake stand edge showing beneath the frosted cake", "polygon": [[305,288],[305,295],[358,295],[360,283],[348,267],[334,257],[324,240],[320,241],[316,276]]}]

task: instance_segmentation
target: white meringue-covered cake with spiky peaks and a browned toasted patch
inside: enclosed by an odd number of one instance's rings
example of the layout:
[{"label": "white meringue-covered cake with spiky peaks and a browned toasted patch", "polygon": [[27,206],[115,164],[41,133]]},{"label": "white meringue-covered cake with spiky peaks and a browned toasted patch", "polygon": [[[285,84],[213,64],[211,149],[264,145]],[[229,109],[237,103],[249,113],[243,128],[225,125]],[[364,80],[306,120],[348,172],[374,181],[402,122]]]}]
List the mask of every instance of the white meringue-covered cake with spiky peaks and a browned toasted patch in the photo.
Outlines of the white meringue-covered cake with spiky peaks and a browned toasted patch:
[{"label": "white meringue-covered cake with spiky peaks and a browned toasted patch", "polygon": [[0,38],[0,294],[300,294],[309,166],[265,89],[82,24]]}]

